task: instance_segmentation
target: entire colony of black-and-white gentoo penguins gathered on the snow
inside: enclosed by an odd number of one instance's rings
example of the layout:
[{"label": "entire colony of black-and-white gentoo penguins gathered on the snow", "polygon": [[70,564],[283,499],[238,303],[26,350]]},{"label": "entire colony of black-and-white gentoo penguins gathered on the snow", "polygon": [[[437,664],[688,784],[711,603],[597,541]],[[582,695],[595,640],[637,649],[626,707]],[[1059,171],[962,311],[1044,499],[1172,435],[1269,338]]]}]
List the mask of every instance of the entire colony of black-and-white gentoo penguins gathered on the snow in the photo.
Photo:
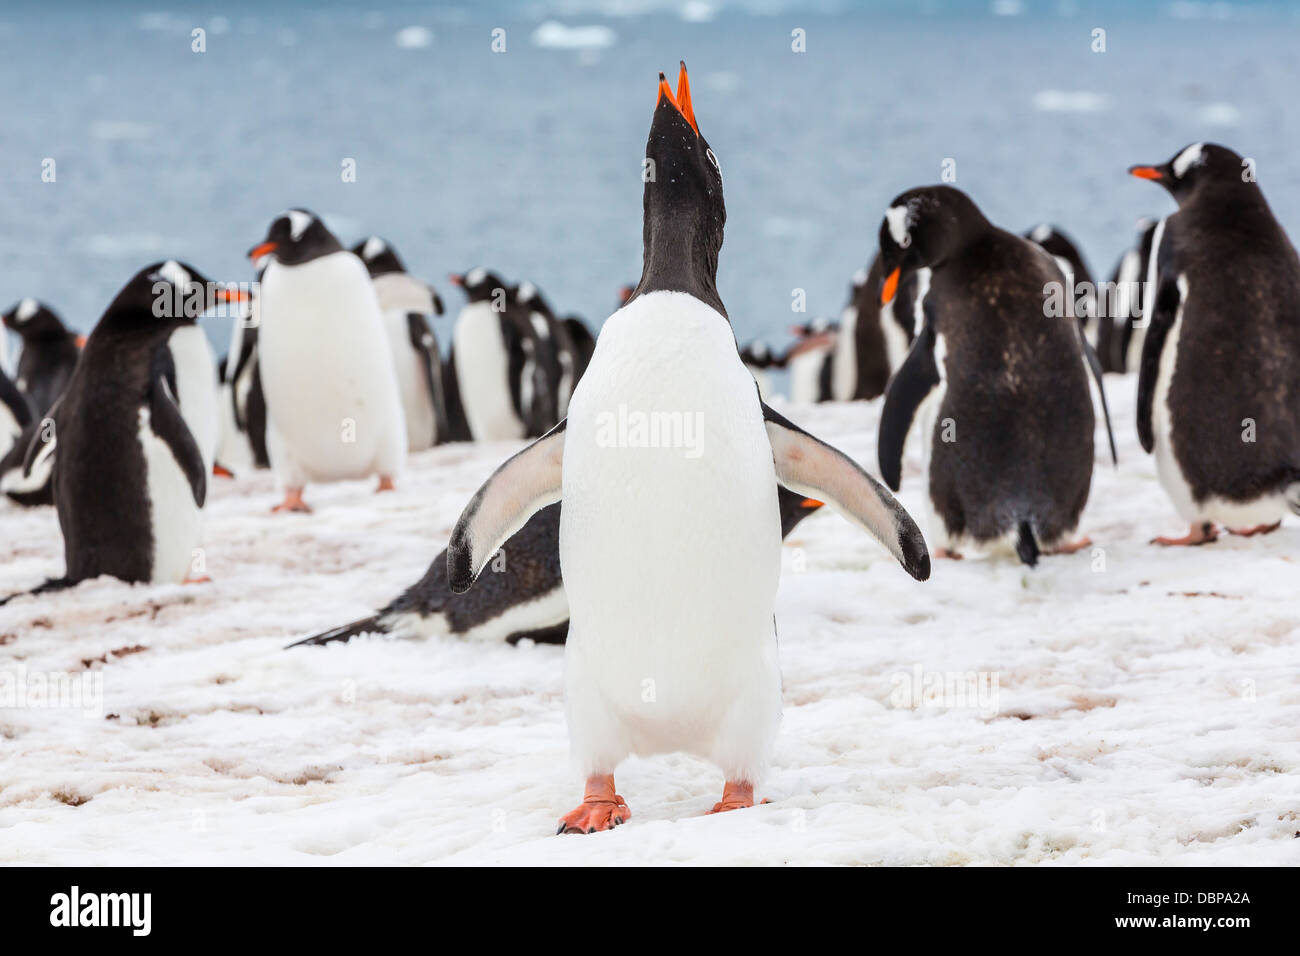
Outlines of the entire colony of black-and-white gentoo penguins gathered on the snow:
[{"label": "entire colony of black-and-white gentoo penguins gathered on the snow", "polygon": [[[214,477],[270,468],[274,511],[309,512],[317,483],[393,490],[408,453],[529,441],[419,581],[291,646],[566,644],[585,791],[558,831],[594,832],[630,819],[614,774],[632,754],[703,757],[724,780],[714,812],[754,804],[780,722],[781,540],[823,505],[919,581],[932,554],[1006,549],[1034,566],[1088,546],[1102,373],[1138,373],[1141,447],[1188,527],[1153,544],[1300,514],[1300,259],[1234,151],[1195,143],[1130,169],[1176,209],[1139,221],[1101,286],[1053,225],[1018,234],[950,186],[906,190],[838,319],[793,326],[780,354],[737,347],[718,293],[722,165],[685,64],[675,87],[659,75],[645,156],[659,174],[644,186],[642,273],[598,339],[485,267],[448,277],[464,297],[452,319],[389,241],[347,247],[302,208],[248,251],[256,282],[156,261],[87,338],[18,300],[3,313],[21,355],[0,354],[0,490],[53,505],[65,550],[62,572],[21,596],[100,575],[205,580],[194,555]],[[218,362],[198,319],[221,311],[235,321]],[[797,405],[883,401],[883,483],[767,403],[781,373]],[[707,458],[603,440],[621,407],[698,420]],[[889,492],[913,434],[926,536]],[[497,555],[507,572],[485,574]]]}]

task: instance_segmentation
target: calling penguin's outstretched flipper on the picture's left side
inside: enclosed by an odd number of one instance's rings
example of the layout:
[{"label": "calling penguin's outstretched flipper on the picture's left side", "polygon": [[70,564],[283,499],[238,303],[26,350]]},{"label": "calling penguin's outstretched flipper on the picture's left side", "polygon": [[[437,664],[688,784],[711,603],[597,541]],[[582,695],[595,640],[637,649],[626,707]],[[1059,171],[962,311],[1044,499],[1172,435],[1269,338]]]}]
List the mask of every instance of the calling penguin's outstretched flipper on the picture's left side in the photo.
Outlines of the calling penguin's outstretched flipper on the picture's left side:
[{"label": "calling penguin's outstretched flipper on the picture's left side", "polygon": [[536,511],[560,499],[564,421],[506,459],[465,505],[447,544],[447,584],[456,594]]}]

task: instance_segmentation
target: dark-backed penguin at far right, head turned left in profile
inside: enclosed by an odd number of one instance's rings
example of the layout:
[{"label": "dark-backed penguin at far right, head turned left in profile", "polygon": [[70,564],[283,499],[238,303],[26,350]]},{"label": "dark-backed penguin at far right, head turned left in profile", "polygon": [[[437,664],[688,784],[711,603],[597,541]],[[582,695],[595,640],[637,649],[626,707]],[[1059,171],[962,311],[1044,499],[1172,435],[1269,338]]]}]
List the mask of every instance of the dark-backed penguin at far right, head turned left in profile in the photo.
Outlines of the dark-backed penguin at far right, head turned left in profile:
[{"label": "dark-backed penguin at far right, head turned left in profile", "polygon": [[1138,437],[1186,537],[1274,531],[1300,514],[1300,259],[1247,160],[1193,143],[1132,166],[1174,196],[1147,272]]}]

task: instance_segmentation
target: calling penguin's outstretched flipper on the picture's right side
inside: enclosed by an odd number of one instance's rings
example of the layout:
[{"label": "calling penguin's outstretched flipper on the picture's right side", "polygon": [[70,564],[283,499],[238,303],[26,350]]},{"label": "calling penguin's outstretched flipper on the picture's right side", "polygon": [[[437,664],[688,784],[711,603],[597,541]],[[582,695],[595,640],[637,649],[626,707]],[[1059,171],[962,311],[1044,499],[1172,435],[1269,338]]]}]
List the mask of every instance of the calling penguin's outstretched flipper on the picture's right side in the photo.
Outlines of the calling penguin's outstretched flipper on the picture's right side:
[{"label": "calling penguin's outstretched flipper on the picture's right side", "polygon": [[776,480],[797,494],[819,498],[866,531],[923,581],[930,578],[930,550],[911,515],[857,462],[814,438],[780,412],[763,405],[772,442]]}]

